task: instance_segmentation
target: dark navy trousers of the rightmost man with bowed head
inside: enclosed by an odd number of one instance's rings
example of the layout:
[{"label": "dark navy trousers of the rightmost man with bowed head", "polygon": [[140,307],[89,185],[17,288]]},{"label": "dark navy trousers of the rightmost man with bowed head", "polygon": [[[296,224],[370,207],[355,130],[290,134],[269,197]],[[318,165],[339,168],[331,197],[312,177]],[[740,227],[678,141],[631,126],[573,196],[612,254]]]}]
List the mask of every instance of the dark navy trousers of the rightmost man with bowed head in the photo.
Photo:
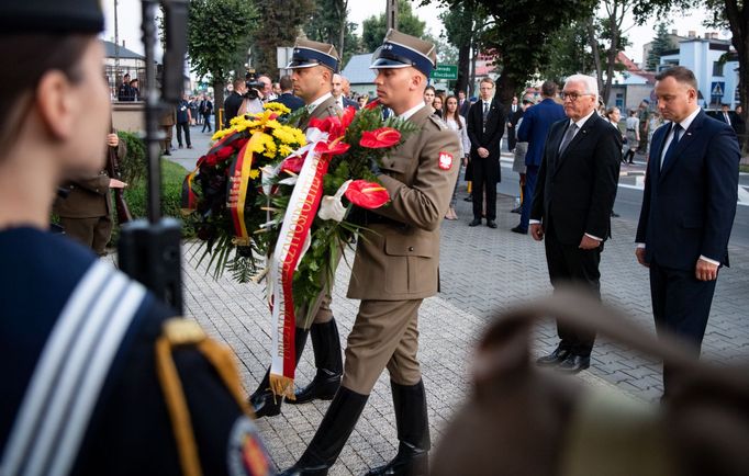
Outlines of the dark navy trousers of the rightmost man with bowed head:
[{"label": "dark navy trousers of the rightmost man with bowed head", "polygon": [[[668,330],[693,345],[698,355],[717,281],[700,281],[694,271],[674,270],[650,263],[650,297],[656,330]],[[663,366],[663,386],[669,370]]]}]

